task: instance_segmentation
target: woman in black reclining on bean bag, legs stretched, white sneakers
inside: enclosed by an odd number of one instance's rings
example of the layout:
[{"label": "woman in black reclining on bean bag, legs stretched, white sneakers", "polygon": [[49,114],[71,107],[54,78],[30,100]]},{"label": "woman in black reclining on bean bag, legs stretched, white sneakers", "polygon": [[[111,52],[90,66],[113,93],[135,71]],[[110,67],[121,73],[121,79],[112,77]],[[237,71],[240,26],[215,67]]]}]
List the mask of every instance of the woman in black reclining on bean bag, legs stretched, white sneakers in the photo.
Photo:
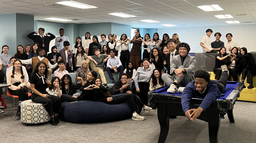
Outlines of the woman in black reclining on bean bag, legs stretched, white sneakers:
[{"label": "woman in black reclining on bean bag, legs stretched, white sneakers", "polygon": [[[122,78],[127,77],[126,75],[123,75]],[[127,79],[127,78],[126,78]],[[111,97],[110,93],[108,92],[108,89],[102,86],[100,78],[95,77],[92,81],[92,90],[93,94],[92,100],[94,102],[104,102],[109,105],[117,105],[124,103],[128,101],[128,104],[130,105],[131,111],[132,111],[132,120],[144,120],[145,117],[140,116],[138,113],[136,113],[136,105],[138,105],[140,108],[144,108],[144,113],[149,113],[153,112],[152,108],[144,105],[141,101],[140,98],[137,98],[135,94],[119,94],[119,96],[116,97]],[[129,86],[129,84],[124,85],[124,86]]]}]

